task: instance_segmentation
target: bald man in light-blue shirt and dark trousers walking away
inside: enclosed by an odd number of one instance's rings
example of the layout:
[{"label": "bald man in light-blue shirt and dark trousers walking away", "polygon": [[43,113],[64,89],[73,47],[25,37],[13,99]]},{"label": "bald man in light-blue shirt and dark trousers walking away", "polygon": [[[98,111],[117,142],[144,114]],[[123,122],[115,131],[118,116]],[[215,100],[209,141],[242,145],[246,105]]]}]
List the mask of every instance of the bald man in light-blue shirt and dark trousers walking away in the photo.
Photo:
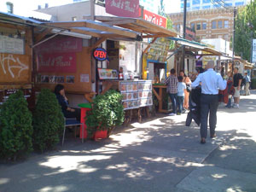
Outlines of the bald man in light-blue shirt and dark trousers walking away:
[{"label": "bald man in light-blue shirt and dark trousers walking away", "polygon": [[224,90],[227,82],[219,73],[213,71],[214,61],[207,62],[207,71],[200,73],[192,83],[192,88],[201,84],[201,143],[206,143],[208,115],[210,113],[210,136],[216,137],[218,89]]}]

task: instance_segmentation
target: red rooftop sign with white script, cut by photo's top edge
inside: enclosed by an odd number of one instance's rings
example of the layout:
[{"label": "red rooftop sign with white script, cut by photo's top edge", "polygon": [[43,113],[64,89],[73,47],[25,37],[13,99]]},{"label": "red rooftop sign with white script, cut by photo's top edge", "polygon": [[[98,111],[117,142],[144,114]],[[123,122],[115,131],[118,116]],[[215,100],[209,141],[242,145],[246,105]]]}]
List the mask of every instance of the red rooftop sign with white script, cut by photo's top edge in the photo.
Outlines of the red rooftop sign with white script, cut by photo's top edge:
[{"label": "red rooftop sign with white script, cut by photo's top edge", "polygon": [[139,17],[139,0],[106,0],[106,12],[120,17]]}]

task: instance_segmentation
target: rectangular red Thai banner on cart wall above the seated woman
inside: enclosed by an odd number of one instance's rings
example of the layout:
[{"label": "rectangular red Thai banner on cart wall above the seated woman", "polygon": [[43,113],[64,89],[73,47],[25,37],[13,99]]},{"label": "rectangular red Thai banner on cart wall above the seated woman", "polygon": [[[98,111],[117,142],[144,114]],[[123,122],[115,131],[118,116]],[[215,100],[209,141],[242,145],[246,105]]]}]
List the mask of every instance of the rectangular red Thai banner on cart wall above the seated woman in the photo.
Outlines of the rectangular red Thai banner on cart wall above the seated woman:
[{"label": "rectangular red Thai banner on cart wall above the seated woman", "polygon": [[76,73],[75,53],[38,55],[38,73]]}]

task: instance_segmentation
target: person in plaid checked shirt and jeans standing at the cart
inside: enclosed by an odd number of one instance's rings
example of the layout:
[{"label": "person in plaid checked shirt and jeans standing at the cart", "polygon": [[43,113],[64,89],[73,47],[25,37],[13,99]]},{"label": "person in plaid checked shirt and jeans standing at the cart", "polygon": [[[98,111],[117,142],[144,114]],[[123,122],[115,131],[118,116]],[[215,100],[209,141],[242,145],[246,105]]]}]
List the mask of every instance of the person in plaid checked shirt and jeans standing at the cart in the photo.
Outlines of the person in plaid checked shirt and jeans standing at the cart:
[{"label": "person in plaid checked shirt and jeans standing at the cart", "polygon": [[170,71],[170,76],[166,79],[165,84],[167,85],[166,91],[172,101],[172,113],[171,116],[176,115],[177,109],[177,77],[175,76],[176,70],[174,68]]}]

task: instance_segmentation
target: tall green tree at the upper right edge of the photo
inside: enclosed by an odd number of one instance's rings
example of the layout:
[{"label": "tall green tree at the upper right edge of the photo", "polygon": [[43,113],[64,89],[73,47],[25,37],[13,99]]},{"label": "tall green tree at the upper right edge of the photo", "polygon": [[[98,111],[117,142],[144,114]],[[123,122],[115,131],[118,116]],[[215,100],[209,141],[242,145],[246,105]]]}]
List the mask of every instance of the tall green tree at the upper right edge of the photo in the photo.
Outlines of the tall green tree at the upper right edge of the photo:
[{"label": "tall green tree at the upper right edge of the photo", "polygon": [[[235,54],[242,59],[251,61],[251,37],[255,38],[256,30],[256,2],[238,9],[236,17]],[[253,35],[253,36],[252,36]]]}]

